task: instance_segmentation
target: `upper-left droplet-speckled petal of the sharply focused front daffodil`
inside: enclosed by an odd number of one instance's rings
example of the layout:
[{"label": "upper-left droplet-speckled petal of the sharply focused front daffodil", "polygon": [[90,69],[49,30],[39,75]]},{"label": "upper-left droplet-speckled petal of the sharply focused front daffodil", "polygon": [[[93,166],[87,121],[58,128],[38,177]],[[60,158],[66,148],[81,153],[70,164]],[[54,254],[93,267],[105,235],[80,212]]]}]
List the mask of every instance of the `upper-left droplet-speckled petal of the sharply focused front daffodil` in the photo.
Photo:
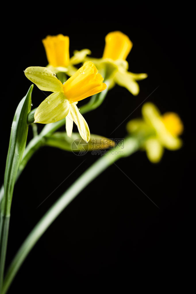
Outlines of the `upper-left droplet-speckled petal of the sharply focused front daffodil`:
[{"label": "upper-left droplet-speckled petal of the sharply focused front daffodil", "polygon": [[47,67],[30,66],[25,69],[24,74],[42,91],[63,91],[63,84]]}]

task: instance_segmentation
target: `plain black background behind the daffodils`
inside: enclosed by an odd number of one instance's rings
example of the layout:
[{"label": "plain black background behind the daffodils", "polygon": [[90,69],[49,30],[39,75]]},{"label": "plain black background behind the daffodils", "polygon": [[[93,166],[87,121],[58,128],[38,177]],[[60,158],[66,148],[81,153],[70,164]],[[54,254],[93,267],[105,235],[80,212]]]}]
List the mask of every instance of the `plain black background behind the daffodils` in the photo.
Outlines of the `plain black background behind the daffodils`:
[{"label": "plain black background behind the daffodils", "polygon": [[[88,11],[75,3],[72,9],[66,4],[53,5],[58,9],[51,6],[46,13],[36,6],[35,11],[29,8],[23,15],[18,14],[17,7],[16,14],[12,8],[1,28],[2,181],[14,112],[31,85],[23,71],[28,66],[46,66],[41,40],[48,34],[68,35],[70,56],[75,49],[88,48],[93,57],[102,56],[108,32],[120,30],[127,34],[133,42],[127,58],[129,70],[146,72],[148,78],[139,82],[140,93],[136,97],[119,86],[109,91],[99,108],[84,115],[91,132],[111,137],[110,133],[159,86],[147,101],[155,103],[162,113],[174,111],[180,115],[185,127],[184,145],[178,151],[165,150],[156,165],[148,161],[145,152],[117,162],[159,209],[116,166],[111,166],[50,226],[25,260],[9,293],[58,293],[67,292],[70,287],[68,293],[72,293],[78,286],[81,290],[88,289],[91,283],[94,293],[104,282],[108,289],[125,283],[132,289],[136,281],[138,287],[141,284],[153,287],[157,281],[161,288],[168,281],[174,286],[175,281],[181,284],[188,270],[187,261],[192,260],[190,206],[194,193],[190,188],[190,163],[195,148],[194,116],[191,118],[195,98],[191,92],[191,8],[171,9],[165,4],[154,10],[141,5],[127,12],[128,7],[121,10],[116,7],[113,13],[103,4]],[[34,86],[33,108],[44,98]],[[87,99],[81,104],[86,102]],[[140,116],[141,106],[112,137],[123,138],[126,123]],[[38,127],[41,130],[42,126]],[[28,141],[31,138],[29,128]],[[75,156],[49,147],[33,156],[14,189],[6,266],[41,216],[97,159],[91,153]]]}]

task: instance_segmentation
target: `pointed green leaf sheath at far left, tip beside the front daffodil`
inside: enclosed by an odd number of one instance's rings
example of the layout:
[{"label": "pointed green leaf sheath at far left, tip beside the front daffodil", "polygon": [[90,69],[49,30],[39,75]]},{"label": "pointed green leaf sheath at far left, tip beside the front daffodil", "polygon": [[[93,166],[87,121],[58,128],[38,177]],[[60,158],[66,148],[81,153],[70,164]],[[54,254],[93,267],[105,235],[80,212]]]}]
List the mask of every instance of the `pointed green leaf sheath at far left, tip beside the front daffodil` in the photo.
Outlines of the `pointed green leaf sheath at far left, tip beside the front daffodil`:
[{"label": "pointed green leaf sheath at far left, tip beside the front daffodil", "polygon": [[14,183],[26,146],[28,133],[27,116],[31,110],[32,90],[33,85],[31,85],[26,96],[20,101],[12,122],[4,176],[4,198],[1,206],[3,215],[9,215],[10,213]]}]

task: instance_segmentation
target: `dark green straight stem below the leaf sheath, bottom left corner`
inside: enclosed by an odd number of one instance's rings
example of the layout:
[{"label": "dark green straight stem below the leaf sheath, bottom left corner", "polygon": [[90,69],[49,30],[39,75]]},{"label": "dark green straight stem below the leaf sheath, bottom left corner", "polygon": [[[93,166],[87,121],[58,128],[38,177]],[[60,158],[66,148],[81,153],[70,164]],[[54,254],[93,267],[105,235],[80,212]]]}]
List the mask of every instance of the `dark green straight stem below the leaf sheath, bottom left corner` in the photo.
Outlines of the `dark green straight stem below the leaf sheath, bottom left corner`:
[{"label": "dark green straight stem below the leaf sheath, bottom left corner", "polygon": [[10,216],[4,216],[1,214],[0,220],[0,292],[3,287],[3,278],[4,278],[4,267],[5,267],[5,258],[6,258],[6,248],[9,232],[9,220]]}]

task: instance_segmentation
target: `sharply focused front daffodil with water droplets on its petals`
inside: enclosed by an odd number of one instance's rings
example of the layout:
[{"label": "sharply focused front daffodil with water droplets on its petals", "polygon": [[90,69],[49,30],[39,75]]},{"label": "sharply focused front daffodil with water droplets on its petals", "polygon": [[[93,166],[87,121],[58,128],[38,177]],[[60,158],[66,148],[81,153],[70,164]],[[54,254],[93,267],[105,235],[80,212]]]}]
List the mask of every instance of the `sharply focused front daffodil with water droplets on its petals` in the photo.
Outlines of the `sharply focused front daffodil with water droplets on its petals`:
[{"label": "sharply focused front daffodil with water droplets on its petals", "polygon": [[36,109],[34,122],[53,123],[66,117],[68,136],[72,134],[74,121],[81,137],[88,142],[90,140],[88,124],[76,104],[107,87],[94,64],[90,61],[85,62],[64,84],[46,67],[31,66],[24,73],[40,90],[53,92]]}]

